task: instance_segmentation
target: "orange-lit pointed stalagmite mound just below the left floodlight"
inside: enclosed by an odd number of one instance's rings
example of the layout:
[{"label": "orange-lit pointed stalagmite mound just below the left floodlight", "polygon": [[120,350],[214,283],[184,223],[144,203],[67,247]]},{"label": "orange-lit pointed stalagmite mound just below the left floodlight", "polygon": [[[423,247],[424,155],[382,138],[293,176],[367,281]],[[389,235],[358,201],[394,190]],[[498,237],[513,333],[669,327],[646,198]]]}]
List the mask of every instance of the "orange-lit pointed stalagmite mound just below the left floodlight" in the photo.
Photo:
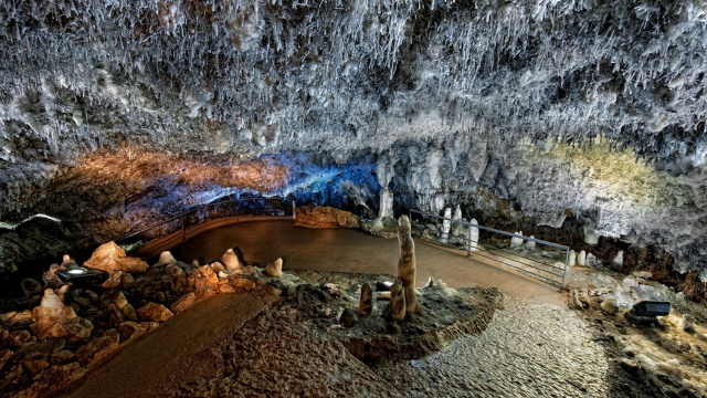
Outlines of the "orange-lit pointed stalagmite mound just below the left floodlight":
[{"label": "orange-lit pointed stalagmite mound just below the left floodlight", "polygon": [[64,305],[51,289],[44,290],[42,303],[32,310],[32,332],[39,338],[67,337],[76,341],[91,336],[93,324],[76,315],[74,308]]}]

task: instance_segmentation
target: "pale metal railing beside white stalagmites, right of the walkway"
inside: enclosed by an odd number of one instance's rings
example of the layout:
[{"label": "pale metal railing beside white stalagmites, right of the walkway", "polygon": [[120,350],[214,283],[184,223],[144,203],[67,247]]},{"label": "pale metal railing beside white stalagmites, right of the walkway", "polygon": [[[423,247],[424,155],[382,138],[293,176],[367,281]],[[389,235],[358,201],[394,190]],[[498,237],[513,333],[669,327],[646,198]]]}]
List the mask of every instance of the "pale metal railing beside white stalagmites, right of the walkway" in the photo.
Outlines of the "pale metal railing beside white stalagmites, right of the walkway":
[{"label": "pale metal railing beside white stalagmites, right of the walkway", "polygon": [[[564,287],[570,251],[570,248],[566,245],[506,231],[499,231],[493,228],[462,220],[454,220],[419,210],[410,210],[409,214],[411,226],[413,227],[413,233],[415,233],[420,239],[455,247],[462,245],[462,249],[465,249],[468,255],[486,258],[497,263],[510,266],[540,281],[562,289]],[[415,217],[413,217],[413,214]],[[425,219],[442,220],[442,226],[434,224],[439,231],[431,231],[424,223]],[[454,228],[454,226],[460,226],[465,230],[465,233],[460,237],[458,228]],[[476,231],[474,231],[474,229],[476,229]],[[454,230],[456,230],[456,234],[454,233]],[[474,235],[476,239],[474,239]],[[504,237],[503,241],[499,240],[498,235]],[[482,238],[484,240],[483,242]],[[514,249],[506,244],[508,238],[523,239],[524,242],[535,242],[536,245],[547,247],[548,250],[531,250],[527,249],[525,245]],[[560,259],[563,260],[561,263],[557,261]],[[547,260],[556,261],[549,262]]]}]

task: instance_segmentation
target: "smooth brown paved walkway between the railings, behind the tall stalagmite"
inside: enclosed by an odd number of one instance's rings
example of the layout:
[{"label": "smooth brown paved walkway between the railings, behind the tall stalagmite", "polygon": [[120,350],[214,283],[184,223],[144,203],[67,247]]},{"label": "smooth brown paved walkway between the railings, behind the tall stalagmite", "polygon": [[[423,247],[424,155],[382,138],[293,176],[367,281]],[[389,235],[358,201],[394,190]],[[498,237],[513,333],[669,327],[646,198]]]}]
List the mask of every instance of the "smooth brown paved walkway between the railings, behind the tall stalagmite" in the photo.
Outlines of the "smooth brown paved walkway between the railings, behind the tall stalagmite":
[{"label": "smooth brown paved walkway between the railings, behind the tall stalagmite", "polygon": [[[502,293],[545,304],[566,305],[559,289],[481,256],[415,239],[418,286],[429,276],[450,287],[497,287]],[[398,240],[372,237],[354,229],[306,228],[292,221],[241,222],[203,232],[171,249],[187,262],[220,260],[239,248],[249,264],[264,266],[277,258],[283,270],[319,272],[398,273]]]}]

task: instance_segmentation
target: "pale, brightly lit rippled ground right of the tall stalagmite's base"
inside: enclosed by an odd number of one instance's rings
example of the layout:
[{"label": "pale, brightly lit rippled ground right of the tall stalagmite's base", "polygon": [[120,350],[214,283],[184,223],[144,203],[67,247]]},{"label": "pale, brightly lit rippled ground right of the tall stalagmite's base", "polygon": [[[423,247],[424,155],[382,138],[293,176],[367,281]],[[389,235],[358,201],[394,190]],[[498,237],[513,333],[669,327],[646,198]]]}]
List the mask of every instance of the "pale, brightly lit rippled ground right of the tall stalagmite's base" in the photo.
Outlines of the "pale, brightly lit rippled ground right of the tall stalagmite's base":
[{"label": "pale, brightly lit rippled ground right of the tall stalagmite's base", "polygon": [[608,360],[572,311],[505,297],[479,336],[376,368],[409,397],[606,397]]}]

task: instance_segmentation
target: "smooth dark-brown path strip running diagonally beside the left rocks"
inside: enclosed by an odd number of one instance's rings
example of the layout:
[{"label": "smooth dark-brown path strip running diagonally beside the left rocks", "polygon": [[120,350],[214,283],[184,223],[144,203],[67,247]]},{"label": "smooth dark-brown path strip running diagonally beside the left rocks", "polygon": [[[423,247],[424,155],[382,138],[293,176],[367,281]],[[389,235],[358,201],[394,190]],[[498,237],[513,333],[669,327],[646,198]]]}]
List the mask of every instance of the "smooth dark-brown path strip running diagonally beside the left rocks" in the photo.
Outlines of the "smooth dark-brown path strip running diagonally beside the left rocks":
[{"label": "smooth dark-brown path strip running diagonally beside the left rocks", "polygon": [[277,297],[254,294],[223,294],[199,302],[157,331],[128,344],[65,397],[155,396],[149,391],[178,373],[192,355],[220,338],[230,338],[275,300]]}]

